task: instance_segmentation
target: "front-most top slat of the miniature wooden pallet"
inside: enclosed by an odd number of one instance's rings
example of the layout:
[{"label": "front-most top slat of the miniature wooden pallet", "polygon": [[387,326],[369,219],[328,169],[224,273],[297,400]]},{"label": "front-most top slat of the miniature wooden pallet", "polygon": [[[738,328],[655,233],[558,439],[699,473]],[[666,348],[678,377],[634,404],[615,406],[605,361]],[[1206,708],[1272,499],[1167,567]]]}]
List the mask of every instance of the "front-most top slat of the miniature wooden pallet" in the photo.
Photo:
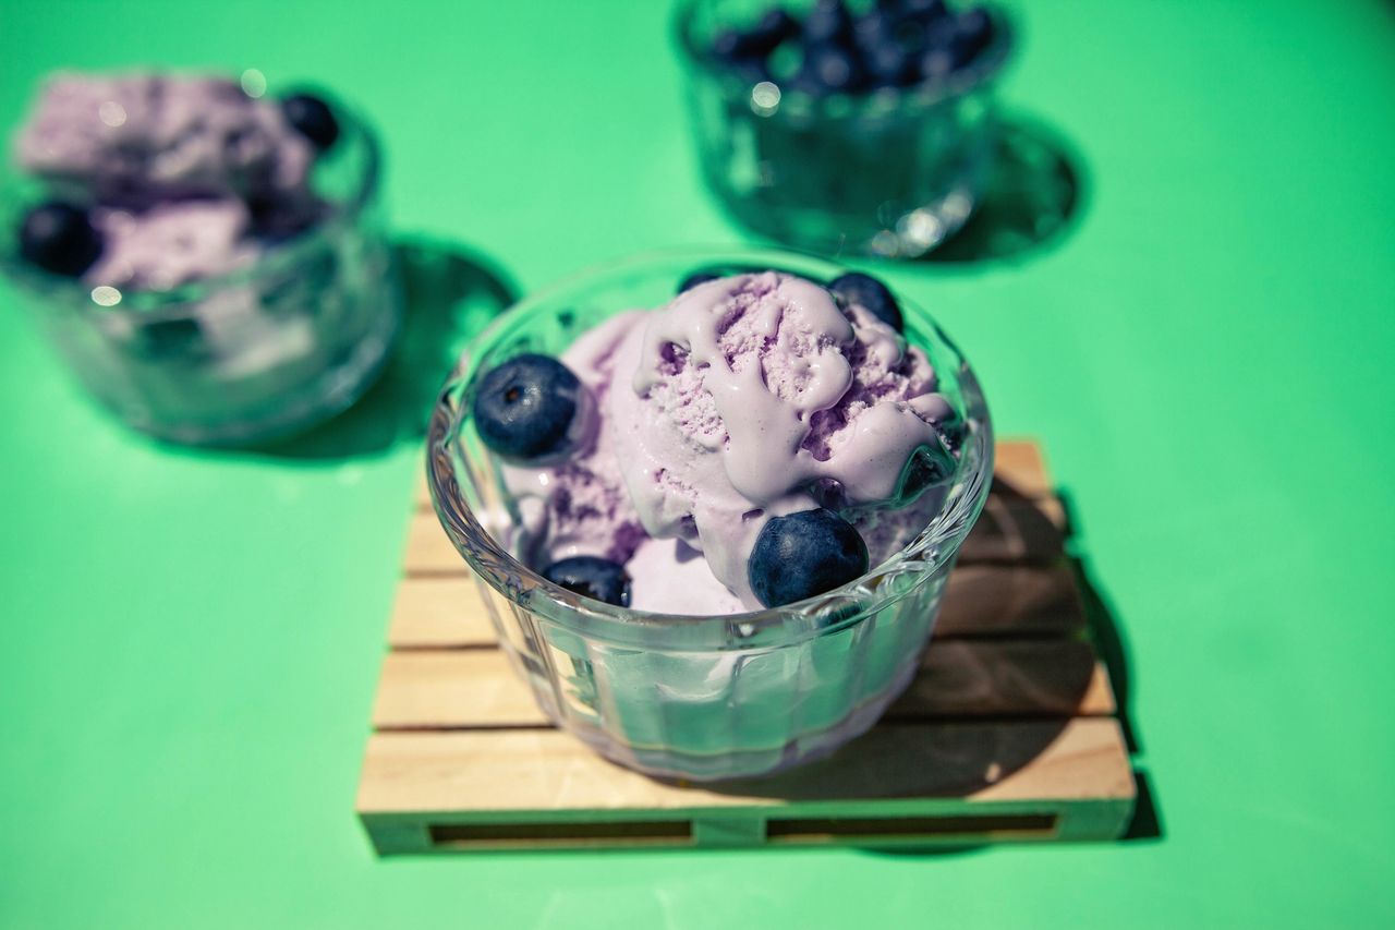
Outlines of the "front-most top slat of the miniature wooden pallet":
[{"label": "front-most top slat of the miniature wooden pallet", "polygon": [[359,811],[555,811],[585,820],[596,811],[865,806],[879,799],[956,799],[971,810],[983,800],[1131,796],[1117,722],[1077,718],[882,726],[822,762],[721,788],[647,778],[552,729],[375,733]]}]

